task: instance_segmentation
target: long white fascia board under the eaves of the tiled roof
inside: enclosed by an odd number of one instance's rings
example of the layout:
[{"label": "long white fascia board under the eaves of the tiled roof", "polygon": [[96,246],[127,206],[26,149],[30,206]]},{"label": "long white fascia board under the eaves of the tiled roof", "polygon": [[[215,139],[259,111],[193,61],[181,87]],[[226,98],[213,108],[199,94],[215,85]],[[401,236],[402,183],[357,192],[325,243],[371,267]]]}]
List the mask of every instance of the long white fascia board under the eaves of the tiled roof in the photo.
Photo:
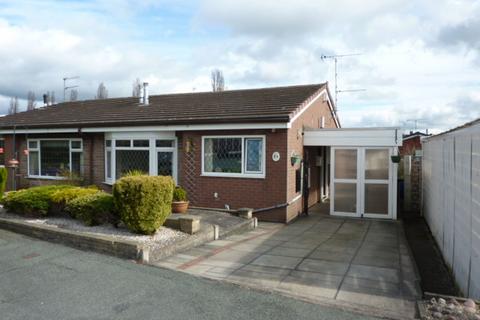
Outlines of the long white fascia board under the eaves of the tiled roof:
[{"label": "long white fascia board under the eaves of the tiled roof", "polygon": [[[251,130],[251,129],[288,129],[287,122],[272,123],[226,123],[192,124],[172,126],[127,126],[127,127],[91,127],[91,128],[45,128],[18,129],[18,134],[33,133],[79,133],[79,132],[145,132],[145,131],[194,131],[194,130]],[[13,130],[0,130],[0,134],[13,134]]]}]

